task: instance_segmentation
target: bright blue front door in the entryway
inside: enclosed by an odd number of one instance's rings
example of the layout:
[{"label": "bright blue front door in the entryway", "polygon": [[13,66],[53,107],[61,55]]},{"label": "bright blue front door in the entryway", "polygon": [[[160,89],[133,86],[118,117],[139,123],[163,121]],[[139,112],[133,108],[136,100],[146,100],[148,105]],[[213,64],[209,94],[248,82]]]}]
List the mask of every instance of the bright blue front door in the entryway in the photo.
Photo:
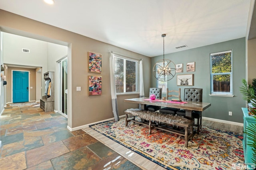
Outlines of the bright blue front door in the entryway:
[{"label": "bright blue front door in the entryway", "polygon": [[28,102],[28,72],[27,71],[13,71],[12,90],[13,103]]}]

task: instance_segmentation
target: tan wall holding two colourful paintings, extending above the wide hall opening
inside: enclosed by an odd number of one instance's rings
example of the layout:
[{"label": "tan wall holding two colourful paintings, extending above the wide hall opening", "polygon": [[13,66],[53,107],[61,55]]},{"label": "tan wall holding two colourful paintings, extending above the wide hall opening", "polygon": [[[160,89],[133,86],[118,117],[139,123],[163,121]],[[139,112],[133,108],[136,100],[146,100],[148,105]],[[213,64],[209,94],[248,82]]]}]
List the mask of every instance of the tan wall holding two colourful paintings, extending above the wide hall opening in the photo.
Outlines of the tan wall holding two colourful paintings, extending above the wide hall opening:
[{"label": "tan wall holding two colourful paintings, extending above the wide hall opening", "polygon": [[[151,74],[149,57],[4,10],[0,10],[0,28],[4,32],[38,38],[51,43],[65,45],[64,42],[66,42],[68,45],[68,126],[70,128],[113,117],[109,75],[110,51],[143,59],[144,89],[145,94],[148,93]],[[88,72],[88,51],[102,54],[102,74]],[[43,68],[42,72],[46,71]],[[101,96],[88,96],[88,75],[102,76]],[[76,91],[77,86],[82,90]],[[118,96],[119,115],[123,115],[124,109],[131,107],[131,104],[123,104],[123,99],[134,96],[139,95]]]}]

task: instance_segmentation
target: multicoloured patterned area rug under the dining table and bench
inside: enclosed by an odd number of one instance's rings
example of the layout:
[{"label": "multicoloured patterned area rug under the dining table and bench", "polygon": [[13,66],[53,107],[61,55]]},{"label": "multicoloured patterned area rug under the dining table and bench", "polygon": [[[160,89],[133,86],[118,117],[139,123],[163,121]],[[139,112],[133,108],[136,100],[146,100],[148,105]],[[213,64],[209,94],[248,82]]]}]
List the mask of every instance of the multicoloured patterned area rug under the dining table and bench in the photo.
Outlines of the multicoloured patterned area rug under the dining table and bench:
[{"label": "multicoloured patterned area rug under the dining table and bench", "polygon": [[200,135],[184,147],[181,136],[152,130],[125,119],[90,125],[113,141],[168,170],[230,170],[232,163],[244,163],[242,133],[203,126]]}]

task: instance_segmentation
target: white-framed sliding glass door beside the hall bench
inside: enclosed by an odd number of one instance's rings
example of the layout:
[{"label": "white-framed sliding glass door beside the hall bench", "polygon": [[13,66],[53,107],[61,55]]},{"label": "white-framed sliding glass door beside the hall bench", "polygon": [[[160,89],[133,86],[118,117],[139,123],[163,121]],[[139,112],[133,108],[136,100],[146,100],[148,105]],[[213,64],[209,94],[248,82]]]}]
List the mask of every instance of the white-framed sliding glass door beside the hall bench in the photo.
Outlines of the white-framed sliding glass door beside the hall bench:
[{"label": "white-framed sliding glass door beside the hall bench", "polygon": [[58,112],[65,117],[68,116],[67,103],[68,103],[68,58],[67,56],[57,62],[58,65]]}]

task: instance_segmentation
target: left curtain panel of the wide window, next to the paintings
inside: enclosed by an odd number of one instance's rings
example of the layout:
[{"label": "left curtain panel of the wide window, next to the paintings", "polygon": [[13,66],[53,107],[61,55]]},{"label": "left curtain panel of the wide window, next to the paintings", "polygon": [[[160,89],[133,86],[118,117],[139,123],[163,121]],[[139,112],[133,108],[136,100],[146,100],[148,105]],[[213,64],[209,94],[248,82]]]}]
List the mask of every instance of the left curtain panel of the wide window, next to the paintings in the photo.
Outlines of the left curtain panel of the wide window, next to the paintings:
[{"label": "left curtain panel of the wide window, next to the paintings", "polygon": [[112,109],[113,109],[115,121],[119,121],[113,59],[114,59],[114,54],[111,53],[109,64],[110,64],[110,89],[111,89]]}]

